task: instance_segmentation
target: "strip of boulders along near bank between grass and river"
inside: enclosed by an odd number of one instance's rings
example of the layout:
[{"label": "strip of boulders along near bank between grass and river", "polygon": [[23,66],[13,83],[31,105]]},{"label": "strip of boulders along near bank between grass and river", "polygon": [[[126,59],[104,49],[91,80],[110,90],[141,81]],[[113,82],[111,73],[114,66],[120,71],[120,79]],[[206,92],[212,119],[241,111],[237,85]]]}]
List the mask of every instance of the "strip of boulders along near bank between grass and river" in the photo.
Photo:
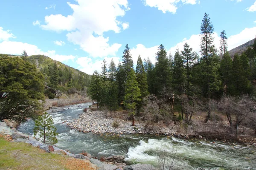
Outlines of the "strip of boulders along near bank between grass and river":
[{"label": "strip of boulders along near bank between grass and river", "polygon": [[[60,155],[73,157],[76,160],[83,160],[82,162],[80,162],[82,163],[81,166],[84,166],[84,163],[89,165],[89,167],[86,167],[86,170],[157,170],[157,168],[153,167],[151,164],[133,164],[127,166],[124,162],[125,156],[122,155],[109,156],[107,158],[102,158],[101,160],[98,160],[97,158],[92,157],[90,153],[86,152],[73,154],[70,153],[68,150],[63,150],[55,146],[48,146],[47,144],[44,144],[41,141],[36,140],[32,136],[18,132],[15,128],[11,128],[8,125],[6,125],[5,122],[0,122],[0,137],[4,137],[9,142],[25,142],[31,144],[34,147],[38,147],[42,150],[45,150],[45,152],[48,153],[56,153]],[[74,162],[76,161],[72,161],[72,163]],[[81,166],[76,165],[76,167]],[[72,167],[71,169],[74,169],[74,167]]]}]

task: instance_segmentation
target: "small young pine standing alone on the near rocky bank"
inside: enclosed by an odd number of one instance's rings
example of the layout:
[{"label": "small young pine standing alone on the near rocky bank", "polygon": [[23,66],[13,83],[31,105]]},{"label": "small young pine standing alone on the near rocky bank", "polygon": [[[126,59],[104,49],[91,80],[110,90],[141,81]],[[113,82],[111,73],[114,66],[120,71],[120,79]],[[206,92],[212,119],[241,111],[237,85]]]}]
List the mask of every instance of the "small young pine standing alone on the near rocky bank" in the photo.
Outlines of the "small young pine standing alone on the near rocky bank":
[{"label": "small young pine standing alone on the near rocky bank", "polygon": [[58,142],[56,130],[52,116],[47,112],[35,120],[34,136],[38,135],[45,144],[56,144]]}]

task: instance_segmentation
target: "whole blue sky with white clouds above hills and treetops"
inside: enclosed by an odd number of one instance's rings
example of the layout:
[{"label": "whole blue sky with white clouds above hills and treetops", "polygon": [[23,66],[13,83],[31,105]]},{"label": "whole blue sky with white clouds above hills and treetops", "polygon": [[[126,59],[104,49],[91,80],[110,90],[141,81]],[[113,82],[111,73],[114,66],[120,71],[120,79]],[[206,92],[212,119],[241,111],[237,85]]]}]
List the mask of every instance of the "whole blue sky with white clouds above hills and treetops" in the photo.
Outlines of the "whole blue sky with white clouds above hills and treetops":
[{"label": "whole blue sky with white clouds above hills and treetops", "polygon": [[256,36],[256,0],[0,0],[0,54],[43,54],[87,74],[122,61],[125,45],[155,62],[187,42],[200,54],[204,13],[215,46],[225,30],[231,50]]}]

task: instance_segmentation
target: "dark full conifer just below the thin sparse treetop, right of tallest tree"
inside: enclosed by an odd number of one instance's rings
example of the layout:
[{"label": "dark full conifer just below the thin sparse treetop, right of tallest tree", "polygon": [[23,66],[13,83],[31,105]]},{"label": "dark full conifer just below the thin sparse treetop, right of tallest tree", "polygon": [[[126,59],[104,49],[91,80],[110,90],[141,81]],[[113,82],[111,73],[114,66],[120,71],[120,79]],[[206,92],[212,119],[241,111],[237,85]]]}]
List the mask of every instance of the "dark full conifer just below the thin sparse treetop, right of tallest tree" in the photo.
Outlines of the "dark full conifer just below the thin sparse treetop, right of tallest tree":
[{"label": "dark full conifer just below the thin sparse treetop, right of tallest tree", "polygon": [[228,94],[232,94],[232,59],[229,53],[225,53],[221,60],[221,79],[224,87],[224,91]]}]

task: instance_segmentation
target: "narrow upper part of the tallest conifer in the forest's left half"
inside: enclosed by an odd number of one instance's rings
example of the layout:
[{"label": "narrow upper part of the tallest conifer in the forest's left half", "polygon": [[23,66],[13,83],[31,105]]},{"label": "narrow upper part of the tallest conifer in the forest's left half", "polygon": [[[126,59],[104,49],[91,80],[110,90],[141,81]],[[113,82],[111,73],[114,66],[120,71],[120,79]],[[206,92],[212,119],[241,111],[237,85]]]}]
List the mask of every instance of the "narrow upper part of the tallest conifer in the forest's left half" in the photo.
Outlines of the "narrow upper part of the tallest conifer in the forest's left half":
[{"label": "narrow upper part of the tallest conifer in the forest's left half", "polygon": [[123,63],[123,68],[125,71],[125,82],[128,77],[128,73],[133,69],[133,61],[131,58],[130,54],[130,48],[128,47],[128,44],[125,46],[125,50],[123,51],[123,56],[122,56],[122,63]]}]

